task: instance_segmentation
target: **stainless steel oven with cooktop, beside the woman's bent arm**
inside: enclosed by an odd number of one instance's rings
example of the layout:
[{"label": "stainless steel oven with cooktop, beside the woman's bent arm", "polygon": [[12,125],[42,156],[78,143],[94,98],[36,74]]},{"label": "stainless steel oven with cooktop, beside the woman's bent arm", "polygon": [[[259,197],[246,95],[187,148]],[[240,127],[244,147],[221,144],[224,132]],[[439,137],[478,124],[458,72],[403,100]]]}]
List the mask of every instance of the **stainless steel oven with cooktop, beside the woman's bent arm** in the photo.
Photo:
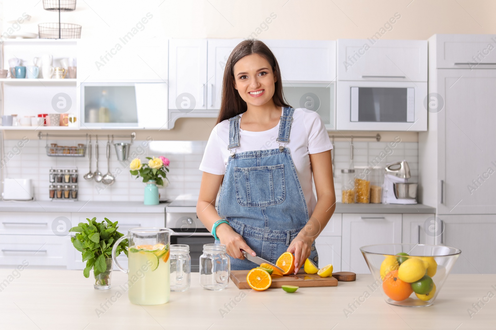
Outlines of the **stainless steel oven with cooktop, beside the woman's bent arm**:
[{"label": "stainless steel oven with cooktop, beside the woman's bent arm", "polygon": [[203,244],[213,243],[215,239],[196,216],[196,199],[176,199],[166,206],[165,212],[166,227],[175,232],[171,244],[189,245],[191,272],[198,272]]}]

